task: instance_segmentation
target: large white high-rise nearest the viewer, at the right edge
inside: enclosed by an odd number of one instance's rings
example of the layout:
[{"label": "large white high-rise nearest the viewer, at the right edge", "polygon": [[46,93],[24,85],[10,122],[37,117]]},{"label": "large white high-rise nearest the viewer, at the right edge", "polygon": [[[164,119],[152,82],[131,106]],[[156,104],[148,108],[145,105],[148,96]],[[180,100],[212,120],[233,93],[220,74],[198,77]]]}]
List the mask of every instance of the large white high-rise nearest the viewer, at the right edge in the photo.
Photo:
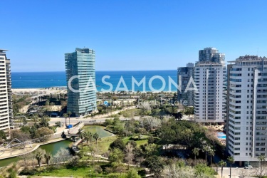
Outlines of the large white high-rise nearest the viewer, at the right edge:
[{"label": "large white high-rise nearest the viewer, at the right edge", "polygon": [[242,56],[230,63],[226,149],[247,165],[267,154],[267,58]]}]

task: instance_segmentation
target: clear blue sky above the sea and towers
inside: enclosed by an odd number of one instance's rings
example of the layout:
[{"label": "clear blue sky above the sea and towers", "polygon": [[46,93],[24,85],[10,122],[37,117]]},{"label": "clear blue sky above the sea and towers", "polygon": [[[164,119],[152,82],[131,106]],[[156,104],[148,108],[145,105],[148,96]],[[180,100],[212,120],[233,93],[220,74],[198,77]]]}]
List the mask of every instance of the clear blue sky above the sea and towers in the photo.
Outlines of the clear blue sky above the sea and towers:
[{"label": "clear blue sky above the sea and towers", "polygon": [[267,1],[1,1],[0,48],[14,72],[64,71],[95,50],[95,70],[176,70],[215,47],[226,61],[267,56]]}]

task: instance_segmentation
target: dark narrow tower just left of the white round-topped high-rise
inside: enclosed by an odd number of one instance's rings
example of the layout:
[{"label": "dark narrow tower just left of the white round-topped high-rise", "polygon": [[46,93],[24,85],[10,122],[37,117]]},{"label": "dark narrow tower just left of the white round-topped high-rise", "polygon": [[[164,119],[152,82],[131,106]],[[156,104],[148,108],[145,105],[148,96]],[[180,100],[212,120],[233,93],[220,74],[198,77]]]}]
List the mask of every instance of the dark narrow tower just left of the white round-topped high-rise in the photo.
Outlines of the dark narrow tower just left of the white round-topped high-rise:
[{"label": "dark narrow tower just left of the white round-topped high-rise", "polygon": [[193,79],[194,75],[194,63],[187,63],[187,67],[178,68],[177,70],[178,85],[181,87],[177,90],[177,100],[179,103],[187,101],[187,105],[194,105],[194,90],[186,90],[188,87],[193,86],[190,83],[190,78]]}]

